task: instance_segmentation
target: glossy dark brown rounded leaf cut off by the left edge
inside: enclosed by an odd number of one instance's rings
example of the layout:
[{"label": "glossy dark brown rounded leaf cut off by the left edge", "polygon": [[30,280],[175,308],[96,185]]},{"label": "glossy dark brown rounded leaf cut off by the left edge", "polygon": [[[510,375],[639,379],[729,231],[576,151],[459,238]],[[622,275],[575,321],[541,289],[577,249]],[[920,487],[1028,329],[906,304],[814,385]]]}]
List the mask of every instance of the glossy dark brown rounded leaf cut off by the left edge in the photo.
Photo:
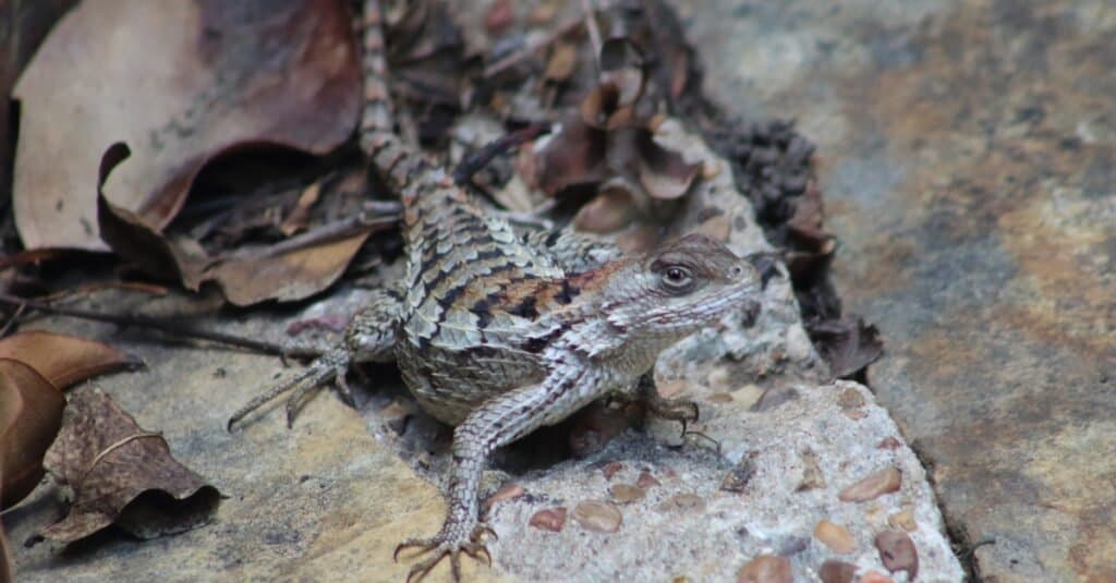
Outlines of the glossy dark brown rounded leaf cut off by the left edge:
[{"label": "glossy dark brown rounded leaf cut off by the left edge", "polygon": [[62,394],[35,369],[0,359],[0,509],[39,484],[42,455],[58,434],[65,408]]}]

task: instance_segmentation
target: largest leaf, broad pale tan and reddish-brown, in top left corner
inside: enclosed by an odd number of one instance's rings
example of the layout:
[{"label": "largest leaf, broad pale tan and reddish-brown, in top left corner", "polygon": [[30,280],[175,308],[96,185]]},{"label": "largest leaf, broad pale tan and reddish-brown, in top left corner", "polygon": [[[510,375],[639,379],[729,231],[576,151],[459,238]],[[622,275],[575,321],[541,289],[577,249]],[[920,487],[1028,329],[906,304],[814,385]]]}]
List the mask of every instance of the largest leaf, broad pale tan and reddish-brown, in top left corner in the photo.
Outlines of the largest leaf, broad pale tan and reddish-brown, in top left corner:
[{"label": "largest leaf, broad pale tan and reddish-brown, in top left corner", "polygon": [[201,168],[231,149],[336,147],[358,114],[356,55],[347,10],[333,0],[264,11],[223,0],[81,2],[13,92],[23,104],[13,188],[23,245],[105,249],[90,182],[112,142],[136,156],[105,194],[155,232]]}]

